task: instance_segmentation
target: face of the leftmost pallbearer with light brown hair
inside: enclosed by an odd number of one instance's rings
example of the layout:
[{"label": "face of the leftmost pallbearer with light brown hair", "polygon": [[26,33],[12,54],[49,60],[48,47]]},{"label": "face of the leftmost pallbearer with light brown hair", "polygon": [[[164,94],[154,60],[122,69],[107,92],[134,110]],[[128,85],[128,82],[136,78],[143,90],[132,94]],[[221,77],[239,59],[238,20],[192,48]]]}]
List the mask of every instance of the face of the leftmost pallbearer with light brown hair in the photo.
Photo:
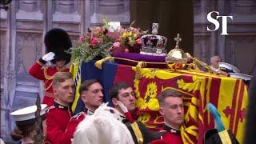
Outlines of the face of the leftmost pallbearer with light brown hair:
[{"label": "face of the leftmost pallbearer with light brown hair", "polygon": [[68,105],[70,102],[74,101],[74,81],[69,78],[64,82],[59,82],[58,86],[54,89],[54,94],[56,99],[61,104]]}]

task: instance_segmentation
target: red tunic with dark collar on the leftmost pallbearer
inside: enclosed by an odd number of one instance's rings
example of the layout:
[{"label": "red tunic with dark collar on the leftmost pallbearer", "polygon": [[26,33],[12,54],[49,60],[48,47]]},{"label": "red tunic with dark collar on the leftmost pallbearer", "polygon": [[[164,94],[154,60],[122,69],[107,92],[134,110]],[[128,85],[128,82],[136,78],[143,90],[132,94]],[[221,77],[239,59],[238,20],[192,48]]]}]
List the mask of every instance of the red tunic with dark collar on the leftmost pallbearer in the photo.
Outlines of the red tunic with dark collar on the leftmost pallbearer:
[{"label": "red tunic with dark collar on the leftmost pallbearer", "polygon": [[70,106],[62,106],[54,101],[46,114],[46,142],[51,144],[69,144],[73,131],[67,130],[71,118]]}]

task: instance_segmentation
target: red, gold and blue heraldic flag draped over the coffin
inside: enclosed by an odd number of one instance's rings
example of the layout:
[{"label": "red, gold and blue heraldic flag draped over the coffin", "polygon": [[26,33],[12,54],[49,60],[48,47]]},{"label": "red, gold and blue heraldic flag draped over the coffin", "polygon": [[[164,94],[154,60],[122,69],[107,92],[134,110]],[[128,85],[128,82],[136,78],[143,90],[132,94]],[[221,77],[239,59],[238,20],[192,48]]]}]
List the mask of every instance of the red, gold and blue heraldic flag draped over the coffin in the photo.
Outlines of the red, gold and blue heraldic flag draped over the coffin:
[{"label": "red, gold and blue heraldic flag draped over the coffin", "polygon": [[[184,143],[202,143],[206,130],[214,128],[214,118],[206,109],[211,102],[218,108],[226,129],[231,130],[239,142],[245,124],[247,90],[240,79],[218,77],[187,70],[169,71],[142,68],[141,78],[135,79],[135,67],[103,63],[102,70],[94,67],[94,62],[81,67],[81,82],[98,78],[102,82],[106,102],[110,102],[109,88],[116,82],[128,82],[134,86],[137,99],[138,120],[151,130],[159,130],[162,117],[158,113],[158,94],[165,89],[182,92],[185,104],[185,122],[181,127]],[[81,103],[76,98],[73,107],[79,109]]]}]

